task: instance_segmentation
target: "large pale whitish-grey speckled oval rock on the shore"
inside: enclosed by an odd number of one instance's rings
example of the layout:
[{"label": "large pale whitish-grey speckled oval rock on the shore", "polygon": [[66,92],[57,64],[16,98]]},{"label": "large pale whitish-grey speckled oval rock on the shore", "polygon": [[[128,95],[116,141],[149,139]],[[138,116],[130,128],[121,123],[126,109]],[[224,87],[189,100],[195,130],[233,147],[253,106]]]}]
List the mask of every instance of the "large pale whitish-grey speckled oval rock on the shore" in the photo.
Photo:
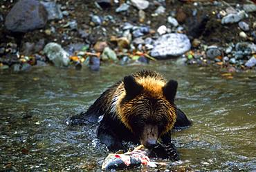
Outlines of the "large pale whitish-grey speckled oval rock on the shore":
[{"label": "large pale whitish-grey speckled oval rock on the shore", "polygon": [[181,56],[188,52],[190,47],[190,40],[185,34],[164,34],[155,41],[151,56],[155,58]]}]

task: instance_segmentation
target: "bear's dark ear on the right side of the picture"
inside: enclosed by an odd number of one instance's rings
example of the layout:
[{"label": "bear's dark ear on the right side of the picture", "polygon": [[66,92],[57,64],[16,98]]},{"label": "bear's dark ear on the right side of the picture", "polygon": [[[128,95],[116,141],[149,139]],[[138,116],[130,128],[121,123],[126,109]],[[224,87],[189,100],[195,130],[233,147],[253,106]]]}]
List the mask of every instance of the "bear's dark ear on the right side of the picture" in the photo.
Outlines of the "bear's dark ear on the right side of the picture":
[{"label": "bear's dark ear on the right side of the picture", "polygon": [[163,96],[165,96],[170,103],[174,103],[177,87],[178,83],[176,80],[169,80],[169,82],[163,87]]}]

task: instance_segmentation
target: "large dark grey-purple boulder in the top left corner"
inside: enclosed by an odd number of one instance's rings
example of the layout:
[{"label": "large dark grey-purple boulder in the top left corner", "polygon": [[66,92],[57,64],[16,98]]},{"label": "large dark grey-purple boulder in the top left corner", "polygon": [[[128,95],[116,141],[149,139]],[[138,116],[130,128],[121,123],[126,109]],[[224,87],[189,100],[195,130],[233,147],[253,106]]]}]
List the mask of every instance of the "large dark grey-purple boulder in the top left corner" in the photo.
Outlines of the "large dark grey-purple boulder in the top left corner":
[{"label": "large dark grey-purple boulder in the top left corner", "polygon": [[15,3],[6,17],[6,29],[11,32],[29,32],[44,28],[48,14],[36,0],[20,0]]}]

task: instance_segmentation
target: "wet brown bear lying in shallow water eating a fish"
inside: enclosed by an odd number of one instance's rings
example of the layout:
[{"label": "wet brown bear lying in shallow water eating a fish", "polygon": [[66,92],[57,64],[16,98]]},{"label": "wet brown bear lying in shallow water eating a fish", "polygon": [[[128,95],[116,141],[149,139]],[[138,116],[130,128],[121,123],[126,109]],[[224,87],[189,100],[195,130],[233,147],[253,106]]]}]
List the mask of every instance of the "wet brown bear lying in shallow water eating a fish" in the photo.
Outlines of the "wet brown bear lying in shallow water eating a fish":
[{"label": "wet brown bear lying in shallow water eating a fish", "polygon": [[[143,70],[109,87],[89,109],[73,116],[71,124],[99,122],[97,136],[111,151],[125,149],[122,140],[154,147],[172,145],[172,129],[191,125],[174,104],[178,83]],[[176,153],[176,151],[174,151]]]}]

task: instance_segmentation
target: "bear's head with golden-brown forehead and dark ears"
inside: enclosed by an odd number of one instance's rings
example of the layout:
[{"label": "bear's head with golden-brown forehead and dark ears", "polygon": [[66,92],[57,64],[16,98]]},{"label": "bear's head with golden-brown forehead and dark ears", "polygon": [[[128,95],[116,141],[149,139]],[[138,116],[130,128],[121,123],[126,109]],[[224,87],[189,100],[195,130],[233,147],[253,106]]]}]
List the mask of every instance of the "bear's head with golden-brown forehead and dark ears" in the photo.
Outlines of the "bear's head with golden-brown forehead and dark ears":
[{"label": "bear's head with golden-brown forehead and dark ears", "polygon": [[126,76],[123,84],[125,93],[118,106],[118,118],[141,144],[152,147],[174,126],[178,83],[176,80],[166,83],[154,77]]}]

